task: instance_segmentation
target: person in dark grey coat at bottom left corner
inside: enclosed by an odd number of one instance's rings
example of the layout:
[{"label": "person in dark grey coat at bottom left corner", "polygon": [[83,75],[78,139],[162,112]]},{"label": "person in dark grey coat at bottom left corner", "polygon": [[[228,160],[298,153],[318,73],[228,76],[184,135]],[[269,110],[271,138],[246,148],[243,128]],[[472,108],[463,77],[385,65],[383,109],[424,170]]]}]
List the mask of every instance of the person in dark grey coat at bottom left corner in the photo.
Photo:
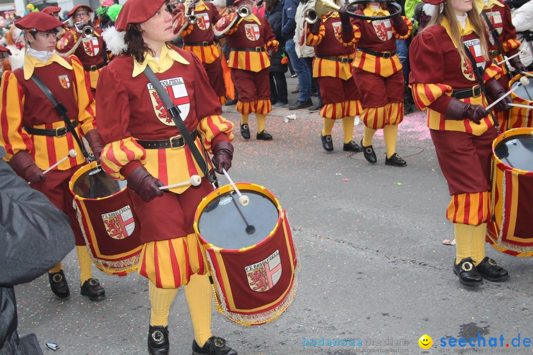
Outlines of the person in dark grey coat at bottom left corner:
[{"label": "person in dark grey coat at bottom left corner", "polygon": [[17,333],[13,286],[43,275],[74,249],[70,220],[2,159],[0,146],[0,355],[42,355],[35,334]]}]

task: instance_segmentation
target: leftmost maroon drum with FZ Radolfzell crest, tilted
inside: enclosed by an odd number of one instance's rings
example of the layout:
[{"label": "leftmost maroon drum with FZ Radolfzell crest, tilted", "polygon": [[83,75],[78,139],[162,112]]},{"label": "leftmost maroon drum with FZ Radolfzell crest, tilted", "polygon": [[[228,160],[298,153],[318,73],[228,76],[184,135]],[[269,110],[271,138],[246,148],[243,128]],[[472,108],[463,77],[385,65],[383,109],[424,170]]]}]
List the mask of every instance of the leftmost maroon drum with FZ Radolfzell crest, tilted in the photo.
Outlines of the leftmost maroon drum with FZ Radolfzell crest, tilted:
[{"label": "leftmost maroon drum with FZ Radolfzell crest, tilted", "polygon": [[96,267],[119,276],[135,271],[142,249],[141,232],[126,181],[111,179],[92,162],[75,172],[69,188]]}]

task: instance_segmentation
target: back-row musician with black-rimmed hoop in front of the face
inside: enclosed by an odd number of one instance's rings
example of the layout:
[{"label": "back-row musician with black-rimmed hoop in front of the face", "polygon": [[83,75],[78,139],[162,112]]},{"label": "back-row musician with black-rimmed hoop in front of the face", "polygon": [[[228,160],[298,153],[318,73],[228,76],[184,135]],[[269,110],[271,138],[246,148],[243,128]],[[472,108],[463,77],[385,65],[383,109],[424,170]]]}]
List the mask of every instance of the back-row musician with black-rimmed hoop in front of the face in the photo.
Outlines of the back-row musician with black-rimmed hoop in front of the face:
[{"label": "back-row musician with black-rimmed hoop in front of the face", "polygon": [[[368,162],[377,162],[372,138],[377,129],[383,129],[387,150],[385,164],[405,167],[407,162],[396,153],[398,125],[403,120],[405,80],[395,39],[408,38],[413,24],[400,14],[385,20],[350,20],[346,12],[348,6],[346,4],[339,10],[342,28],[337,32],[337,38],[346,46],[357,46],[352,71],[363,106],[363,154]],[[380,3],[368,3],[357,12],[366,16],[390,15],[384,7]]]}]

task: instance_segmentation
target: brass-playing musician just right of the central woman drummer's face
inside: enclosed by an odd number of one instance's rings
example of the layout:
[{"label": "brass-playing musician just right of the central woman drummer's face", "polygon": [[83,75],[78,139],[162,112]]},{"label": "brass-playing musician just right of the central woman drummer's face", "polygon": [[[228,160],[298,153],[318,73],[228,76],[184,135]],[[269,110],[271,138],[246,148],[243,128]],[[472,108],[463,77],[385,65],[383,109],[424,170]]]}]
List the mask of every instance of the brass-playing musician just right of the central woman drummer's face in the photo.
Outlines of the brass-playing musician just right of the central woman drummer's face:
[{"label": "brass-playing musician just right of the central woman drummer's face", "polygon": [[[189,23],[180,34],[183,37],[183,49],[192,51],[204,64],[204,69],[209,78],[209,84],[219,97],[220,104],[226,102],[226,87],[222,72],[221,56],[219,49],[214,43],[214,24],[220,20],[221,15],[215,9],[213,3],[204,3],[198,0],[194,3],[195,23]],[[179,31],[187,23],[187,14],[181,11],[177,14],[174,24],[174,32]]]}]

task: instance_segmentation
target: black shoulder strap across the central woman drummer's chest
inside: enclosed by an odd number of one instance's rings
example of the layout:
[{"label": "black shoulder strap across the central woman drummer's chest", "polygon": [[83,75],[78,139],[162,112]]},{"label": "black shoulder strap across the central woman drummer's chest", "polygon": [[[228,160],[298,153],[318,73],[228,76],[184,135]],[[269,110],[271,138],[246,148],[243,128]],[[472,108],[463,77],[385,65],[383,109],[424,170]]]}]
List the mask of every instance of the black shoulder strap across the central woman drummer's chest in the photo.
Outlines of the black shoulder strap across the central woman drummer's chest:
[{"label": "black shoulder strap across the central woman drummer's chest", "polygon": [[209,178],[209,182],[211,184],[216,184],[216,179],[211,174],[209,174],[209,169],[207,167],[207,163],[204,159],[203,154],[201,154],[198,150],[198,147],[192,140],[192,137],[189,131],[187,130],[187,127],[185,127],[185,123],[183,123],[183,120],[181,119],[180,109],[177,107],[177,105],[174,105],[170,96],[168,96],[168,93],[166,92],[165,88],[163,88],[163,85],[161,85],[161,82],[148,65],[146,66],[146,69],[144,69],[143,73],[148,78],[148,81],[150,81],[150,84],[152,84],[154,89],[156,89],[157,95],[159,95],[161,101],[163,101],[163,104],[165,105],[165,108],[170,114],[172,121],[174,121],[174,125],[176,125],[176,128],[180,131],[180,134],[182,135],[185,143],[189,146],[189,149],[192,153],[192,156],[195,158],[198,167],[200,167],[200,170],[204,172],[204,176]]}]

